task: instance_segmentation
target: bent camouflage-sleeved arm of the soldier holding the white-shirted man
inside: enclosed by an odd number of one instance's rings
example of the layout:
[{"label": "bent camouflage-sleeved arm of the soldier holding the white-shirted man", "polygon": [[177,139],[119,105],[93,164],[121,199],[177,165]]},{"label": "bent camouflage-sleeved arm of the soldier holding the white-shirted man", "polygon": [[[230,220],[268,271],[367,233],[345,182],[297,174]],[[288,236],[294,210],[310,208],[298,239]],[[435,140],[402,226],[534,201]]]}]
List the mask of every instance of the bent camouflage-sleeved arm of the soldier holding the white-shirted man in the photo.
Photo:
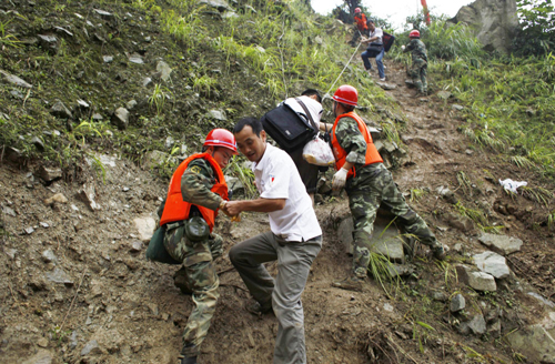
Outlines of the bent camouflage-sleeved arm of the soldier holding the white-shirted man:
[{"label": "bent camouflage-sleeved arm of the soldier holding the white-shirted man", "polygon": [[192,161],[181,176],[183,201],[215,211],[222,198],[210,191],[214,183],[212,168],[203,160]]}]

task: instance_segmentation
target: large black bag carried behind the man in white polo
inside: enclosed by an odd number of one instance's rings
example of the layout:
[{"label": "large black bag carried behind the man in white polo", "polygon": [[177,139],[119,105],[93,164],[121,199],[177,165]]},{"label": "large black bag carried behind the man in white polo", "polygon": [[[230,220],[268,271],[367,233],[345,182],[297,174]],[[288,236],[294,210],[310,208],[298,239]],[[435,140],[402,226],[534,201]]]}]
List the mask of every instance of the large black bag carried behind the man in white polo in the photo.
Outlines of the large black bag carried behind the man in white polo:
[{"label": "large black bag carried behind the man in white polo", "polygon": [[[304,103],[296,98],[295,100],[303,107],[310,119],[310,112]],[[296,113],[285,103],[266,112],[261,121],[266,133],[287,153],[303,148],[319,130],[317,125],[313,125],[304,115]]]}]

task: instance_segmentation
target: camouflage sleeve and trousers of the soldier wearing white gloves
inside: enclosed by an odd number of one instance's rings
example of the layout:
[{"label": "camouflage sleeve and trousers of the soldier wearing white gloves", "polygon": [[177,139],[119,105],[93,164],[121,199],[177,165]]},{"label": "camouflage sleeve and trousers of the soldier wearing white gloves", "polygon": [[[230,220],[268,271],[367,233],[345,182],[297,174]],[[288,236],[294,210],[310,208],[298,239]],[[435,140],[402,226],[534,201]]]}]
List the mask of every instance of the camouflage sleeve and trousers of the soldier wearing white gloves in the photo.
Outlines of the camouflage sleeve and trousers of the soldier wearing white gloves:
[{"label": "camouflage sleeve and trousers of the soldier wearing white gloves", "polygon": [[356,121],[342,118],[337,122],[335,135],[340,145],[347,152],[346,161],[355,163],[356,174],[346,181],[345,191],[349,195],[349,206],[353,215],[353,271],[357,277],[365,277],[370,263],[372,232],[376,211],[382,208],[391,211],[404,230],[415,235],[432,250],[442,249],[441,243],[427,228],[425,221],[407,204],[398,190],[391,172],[383,163],[364,166],[366,141],[359,131]]}]

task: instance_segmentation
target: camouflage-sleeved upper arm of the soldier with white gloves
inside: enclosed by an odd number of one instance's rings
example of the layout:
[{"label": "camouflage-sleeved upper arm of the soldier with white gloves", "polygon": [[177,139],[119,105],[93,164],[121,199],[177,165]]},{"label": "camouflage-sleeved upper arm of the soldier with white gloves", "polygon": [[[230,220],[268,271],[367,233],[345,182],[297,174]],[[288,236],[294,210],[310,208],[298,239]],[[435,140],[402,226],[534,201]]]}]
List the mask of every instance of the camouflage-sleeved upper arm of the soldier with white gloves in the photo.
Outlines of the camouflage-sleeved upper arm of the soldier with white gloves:
[{"label": "camouflage-sleeved upper arm of the soldier with white gloves", "polygon": [[356,121],[352,118],[342,118],[335,129],[337,142],[347,153],[346,162],[364,164],[366,162],[366,141],[362,136]]}]

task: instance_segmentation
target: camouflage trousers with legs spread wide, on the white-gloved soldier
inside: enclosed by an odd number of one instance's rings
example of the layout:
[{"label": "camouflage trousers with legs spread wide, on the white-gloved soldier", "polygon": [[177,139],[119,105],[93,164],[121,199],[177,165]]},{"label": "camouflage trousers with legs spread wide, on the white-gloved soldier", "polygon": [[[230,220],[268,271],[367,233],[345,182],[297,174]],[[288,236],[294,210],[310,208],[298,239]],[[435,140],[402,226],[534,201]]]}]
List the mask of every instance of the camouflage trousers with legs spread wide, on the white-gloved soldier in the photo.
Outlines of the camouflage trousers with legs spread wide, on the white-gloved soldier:
[{"label": "camouflage trousers with legs spread wide, on the white-gloved soldier", "polygon": [[395,223],[422,244],[432,249],[442,246],[426,222],[406,204],[391,172],[382,163],[376,163],[371,169],[364,168],[356,179],[355,188],[347,184],[345,189],[354,224],[353,271],[356,276],[365,277],[367,274],[372,233],[380,205],[393,213],[396,216]]}]

